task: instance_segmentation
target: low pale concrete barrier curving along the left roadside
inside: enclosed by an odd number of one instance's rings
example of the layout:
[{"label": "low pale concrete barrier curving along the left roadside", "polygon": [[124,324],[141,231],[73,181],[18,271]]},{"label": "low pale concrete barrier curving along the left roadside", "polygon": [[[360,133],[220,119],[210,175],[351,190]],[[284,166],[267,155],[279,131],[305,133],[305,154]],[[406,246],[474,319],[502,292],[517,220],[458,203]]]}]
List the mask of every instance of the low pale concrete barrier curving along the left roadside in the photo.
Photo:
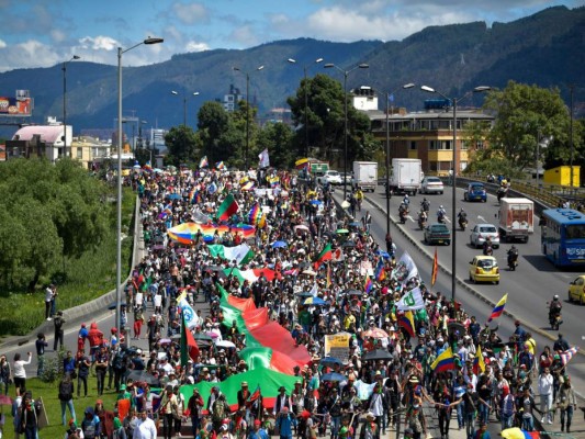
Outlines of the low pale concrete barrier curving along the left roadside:
[{"label": "low pale concrete barrier curving along the left roadside", "polygon": [[[143,236],[142,236],[142,222],[140,222],[140,203],[138,201],[138,196],[136,196],[136,207],[134,209],[134,245],[132,249],[132,267],[130,270],[128,275],[126,279],[122,279],[122,285],[130,280],[132,275],[132,271],[134,270],[134,267],[136,266],[138,252],[144,250],[144,243],[143,243]],[[140,247],[138,247],[140,246]],[[86,317],[89,316],[95,316],[97,314],[103,313],[104,309],[108,308],[108,305],[110,305],[112,302],[115,301],[116,297],[116,291],[115,289],[101,295],[98,299],[94,299],[90,302],[82,303],[81,305],[74,306],[72,308],[68,309],[60,309],[63,311],[63,316],[67,324],[72,324],[76,322],[81,322]],[[7,337],[7,339],[0,344],[0,350],[5,350],[14,347],[22,346],[31,340],[36,339],[36,334],[38,333],[45,333],[45,334],[52,334],[54,330],[53,322],[43,322],[38,327],[30,331],[25,336],[12,336]]]}]

